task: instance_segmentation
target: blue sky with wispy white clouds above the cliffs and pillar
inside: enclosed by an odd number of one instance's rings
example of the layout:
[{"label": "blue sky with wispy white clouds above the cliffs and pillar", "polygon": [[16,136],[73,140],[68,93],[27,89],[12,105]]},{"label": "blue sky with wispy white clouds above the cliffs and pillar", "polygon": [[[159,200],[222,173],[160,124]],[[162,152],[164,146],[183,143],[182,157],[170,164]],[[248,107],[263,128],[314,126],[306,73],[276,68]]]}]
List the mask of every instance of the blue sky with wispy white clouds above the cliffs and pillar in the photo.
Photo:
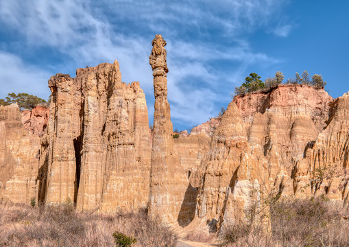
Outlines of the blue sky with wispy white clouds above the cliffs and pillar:
[{"label": "blue sky with wispy white clouds above the cliffs and pillar", "polygon": [[167,40],[178,130],[217,115],[251,72],[321,73],[338,97],[349,91],[348,10],[344,0],[0,0],[0,98],[47,99],[51,75],[117,59],[123,82],[141,83],[152,124],[155,34]]}]

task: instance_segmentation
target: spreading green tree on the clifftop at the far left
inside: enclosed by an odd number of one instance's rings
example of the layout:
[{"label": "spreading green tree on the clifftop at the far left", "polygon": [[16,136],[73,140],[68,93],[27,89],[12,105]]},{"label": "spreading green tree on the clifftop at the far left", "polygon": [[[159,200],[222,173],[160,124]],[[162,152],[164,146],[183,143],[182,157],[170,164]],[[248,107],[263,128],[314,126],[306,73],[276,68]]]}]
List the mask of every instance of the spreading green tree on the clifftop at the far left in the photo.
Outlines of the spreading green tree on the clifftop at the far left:
[{"label": "spreading green tree on the clifftop at the far left", "polygon": [[29,95],[27,93],[9,93],[5,99],[0,99],[1,106],[8,106],[10,104],[17,103],[21,109],[32,109],[35,106],[46,104],[45,99],[41,99],[35,95]]}]

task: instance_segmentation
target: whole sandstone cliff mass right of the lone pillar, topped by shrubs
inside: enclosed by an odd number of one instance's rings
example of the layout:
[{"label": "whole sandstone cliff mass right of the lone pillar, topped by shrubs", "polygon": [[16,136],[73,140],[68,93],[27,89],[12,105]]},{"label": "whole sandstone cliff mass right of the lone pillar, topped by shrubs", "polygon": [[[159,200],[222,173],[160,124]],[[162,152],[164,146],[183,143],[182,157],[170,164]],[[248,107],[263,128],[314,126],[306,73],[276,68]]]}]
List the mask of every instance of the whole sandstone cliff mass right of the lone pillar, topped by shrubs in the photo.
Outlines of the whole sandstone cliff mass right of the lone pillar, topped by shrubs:
[{"label": "whole sandstone cliff mass right of the lone pillar, topped by shrubs", "polygon": [[[268,194],[324,195],[345,202],[346,97],[334,102],[324,89],[306,85],[234,97],[200,165],[206,170],[198,219],[211,229],[234,222]],[[252,191],[259,193],[251,197]]]}]

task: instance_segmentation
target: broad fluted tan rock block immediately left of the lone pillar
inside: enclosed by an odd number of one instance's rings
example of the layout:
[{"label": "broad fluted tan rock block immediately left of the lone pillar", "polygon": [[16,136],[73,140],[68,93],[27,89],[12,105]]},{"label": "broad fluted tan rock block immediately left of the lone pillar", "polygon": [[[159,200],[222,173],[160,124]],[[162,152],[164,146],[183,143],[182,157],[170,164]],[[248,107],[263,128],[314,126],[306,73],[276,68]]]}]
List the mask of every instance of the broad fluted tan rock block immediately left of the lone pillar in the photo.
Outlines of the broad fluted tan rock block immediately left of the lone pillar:
[{"label": "broad fluted tan rock block immediately left of the lone pillar", "polygon": [[76,78],[54,75],[49,87],[49,131],[42,139],[47,155],[40,162],[46,189],[41,197],[47,203],[71,200],[77,209],[145,207],[151,152],[139,82],[121,82],[115,60],[77,69]]}]

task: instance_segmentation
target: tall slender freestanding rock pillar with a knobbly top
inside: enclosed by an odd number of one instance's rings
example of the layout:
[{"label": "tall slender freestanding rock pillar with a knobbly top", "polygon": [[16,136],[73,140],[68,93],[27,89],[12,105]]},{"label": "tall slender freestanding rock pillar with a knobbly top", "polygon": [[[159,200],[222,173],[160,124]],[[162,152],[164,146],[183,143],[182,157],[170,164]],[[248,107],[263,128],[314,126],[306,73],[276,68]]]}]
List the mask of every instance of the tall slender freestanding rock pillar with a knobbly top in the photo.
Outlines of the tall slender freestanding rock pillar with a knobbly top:
[{"label": "tall slender freestanding rock pillar with a knobbly top", "polygon": [[174,223],[184,200],[188,178],[174,152],[173,127],[167,100],[166,41],[156,34],[152,41],[149,64],[154,75],[154,133],[149,191],[149,214],[162,215],[163,221]]}]

